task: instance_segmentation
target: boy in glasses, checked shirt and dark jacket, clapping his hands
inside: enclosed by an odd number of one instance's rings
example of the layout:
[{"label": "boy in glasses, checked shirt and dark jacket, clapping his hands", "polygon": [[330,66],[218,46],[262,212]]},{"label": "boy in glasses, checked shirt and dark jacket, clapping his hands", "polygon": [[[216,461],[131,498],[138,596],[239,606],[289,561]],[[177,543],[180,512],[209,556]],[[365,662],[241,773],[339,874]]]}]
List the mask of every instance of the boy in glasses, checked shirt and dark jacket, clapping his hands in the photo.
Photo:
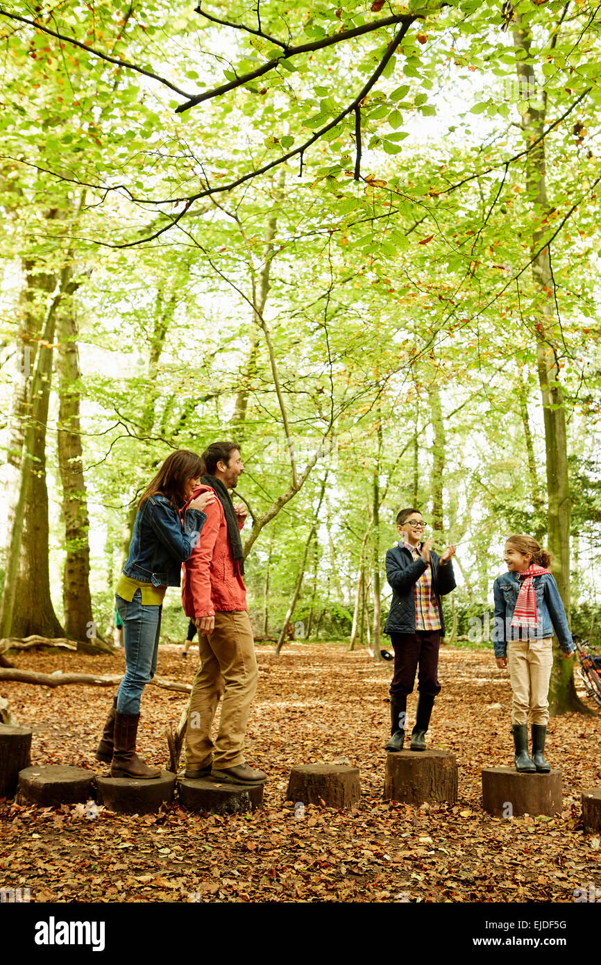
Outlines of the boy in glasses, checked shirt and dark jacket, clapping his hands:
[{"label": "boy in glasses, checked shirt and dark jacket, clapping his hands", "polygon": [[386,554],[386,578],[393,602],[384,632],[395,648],[395,675],[391,684],[391,739],[387,751],[402,751],[405,738],[407,695],[413,690],[418,667],[418,708],[411,734],[411,750],[425,750],[425,732],[434,698],[440,693],[438,650],[445,636],[441,596],[455,588],[449,546],[440,559],[433,539],[422,542],[425,523],[420,510],[400,510],[396,516],[398,544]]}]

